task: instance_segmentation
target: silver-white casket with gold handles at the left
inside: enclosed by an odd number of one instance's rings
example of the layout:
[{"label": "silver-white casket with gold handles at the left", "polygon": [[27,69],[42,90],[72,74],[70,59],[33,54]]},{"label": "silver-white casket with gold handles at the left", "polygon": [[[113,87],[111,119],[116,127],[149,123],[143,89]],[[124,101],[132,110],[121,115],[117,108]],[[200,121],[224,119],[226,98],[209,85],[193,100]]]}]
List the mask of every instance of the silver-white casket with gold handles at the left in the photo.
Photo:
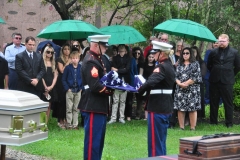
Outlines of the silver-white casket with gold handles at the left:
[{"label": "silver-white casket with gold handles at the left", "polygon": [[21,146],[48,137],[48,102],[38,96],[0,89],[0,144]]}]

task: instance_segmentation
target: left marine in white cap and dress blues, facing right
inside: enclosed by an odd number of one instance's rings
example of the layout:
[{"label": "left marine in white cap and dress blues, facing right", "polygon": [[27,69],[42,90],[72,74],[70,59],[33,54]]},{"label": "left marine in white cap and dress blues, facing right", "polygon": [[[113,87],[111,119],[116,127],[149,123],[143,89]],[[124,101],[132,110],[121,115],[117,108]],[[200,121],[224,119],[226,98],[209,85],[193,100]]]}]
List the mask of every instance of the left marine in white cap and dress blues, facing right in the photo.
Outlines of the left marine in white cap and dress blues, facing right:
[{"label": "left marine in white cap and dress blues, facing right", "polygon": [[84,118],[84,160],[100,160],[104,147],[108,114],[108,96],[111,93],[102,85],[104,76],[102,53],[107,49],[110,35],[89,36],[91,47],[82,62],[81,76],[84,90],[80,100],[80,110]]}]

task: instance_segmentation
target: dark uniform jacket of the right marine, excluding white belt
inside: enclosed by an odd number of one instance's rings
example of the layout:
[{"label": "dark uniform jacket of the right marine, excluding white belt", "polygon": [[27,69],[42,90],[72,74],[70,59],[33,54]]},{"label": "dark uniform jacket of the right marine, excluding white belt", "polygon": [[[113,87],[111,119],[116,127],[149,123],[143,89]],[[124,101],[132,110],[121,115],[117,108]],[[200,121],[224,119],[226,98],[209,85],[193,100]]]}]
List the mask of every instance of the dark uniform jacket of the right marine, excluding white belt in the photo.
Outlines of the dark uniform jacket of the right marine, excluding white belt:
[{"label": "dark uniform jacket of the right marine, excluding white belt", "polygon": [[[148,80],[139,89],[139,93],[147,90],[172,90],[175,82],[175,71],[172,63],[165,59],[159,63]],[[147,111],[158,114],[170,114],[173,109],[172,94],[150,94]]]}]

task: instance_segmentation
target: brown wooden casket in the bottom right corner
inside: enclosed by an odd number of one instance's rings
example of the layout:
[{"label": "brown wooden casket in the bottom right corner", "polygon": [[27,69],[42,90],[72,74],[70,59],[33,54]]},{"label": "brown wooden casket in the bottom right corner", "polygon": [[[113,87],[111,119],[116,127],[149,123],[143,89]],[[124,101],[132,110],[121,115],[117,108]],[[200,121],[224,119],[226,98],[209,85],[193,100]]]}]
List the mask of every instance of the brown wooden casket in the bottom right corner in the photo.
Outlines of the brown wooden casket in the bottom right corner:
[{"label": "brown wooden casket in the bottom right corner", "polygon": [[[196,142],[197,147],[194,147]],[[202,139],[202,136],[181,138],[178,159],[239,160],[240,136],[229,134],[220,138]]]}]

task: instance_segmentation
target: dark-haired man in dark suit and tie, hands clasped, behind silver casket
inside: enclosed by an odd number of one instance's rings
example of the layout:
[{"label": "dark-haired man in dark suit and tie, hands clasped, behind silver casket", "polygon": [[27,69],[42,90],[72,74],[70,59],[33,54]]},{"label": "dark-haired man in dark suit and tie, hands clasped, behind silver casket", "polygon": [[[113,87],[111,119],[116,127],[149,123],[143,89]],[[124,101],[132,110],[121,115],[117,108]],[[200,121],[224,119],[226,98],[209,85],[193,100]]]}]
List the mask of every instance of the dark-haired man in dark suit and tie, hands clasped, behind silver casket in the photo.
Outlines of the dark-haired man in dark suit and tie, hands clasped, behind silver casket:
[{"label": "dark-haired man in dark suit and tie, hands clasped, behind silver casket", "polygon": [[16,55],[15,68],[19,77],[18,90],[40,96],[38,86],[46,72],[41,54],[34,52],[33,37],[25,40],[26,50]]}]

